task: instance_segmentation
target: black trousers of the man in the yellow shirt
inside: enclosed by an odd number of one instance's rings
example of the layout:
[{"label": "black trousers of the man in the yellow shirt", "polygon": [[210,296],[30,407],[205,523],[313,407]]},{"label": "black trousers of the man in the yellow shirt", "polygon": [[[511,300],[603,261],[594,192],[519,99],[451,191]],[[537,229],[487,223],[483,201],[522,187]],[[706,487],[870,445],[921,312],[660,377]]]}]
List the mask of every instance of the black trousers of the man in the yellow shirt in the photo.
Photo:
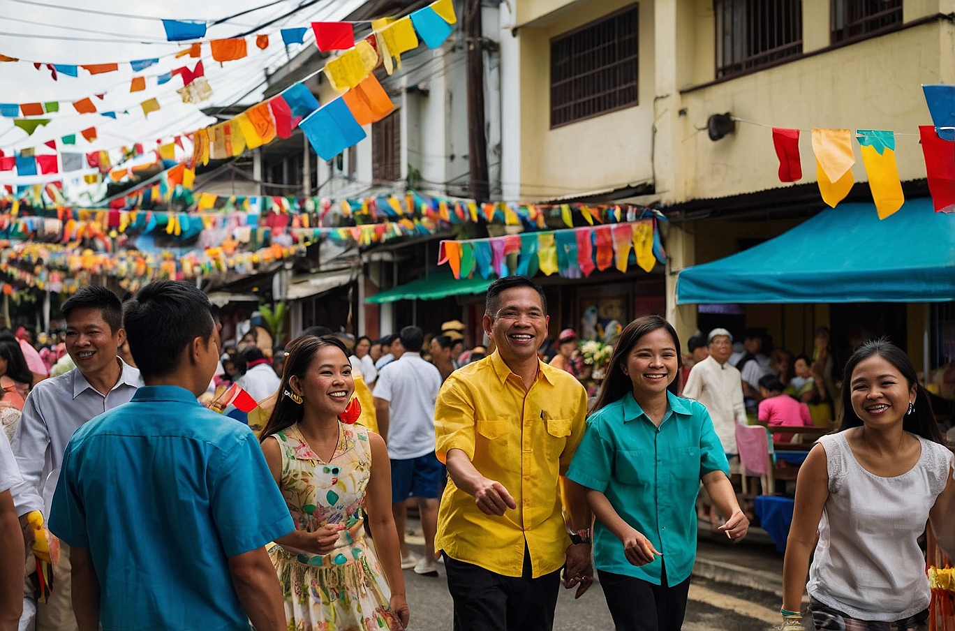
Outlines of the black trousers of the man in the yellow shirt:
[{"label": "black trousers of the man in the yellow shirt", "polygon": [[448,591],[455,600],[455,631],[551,631],[561,571],[531,578],[524,548],[523,573],[504,577],[444,556]]}]

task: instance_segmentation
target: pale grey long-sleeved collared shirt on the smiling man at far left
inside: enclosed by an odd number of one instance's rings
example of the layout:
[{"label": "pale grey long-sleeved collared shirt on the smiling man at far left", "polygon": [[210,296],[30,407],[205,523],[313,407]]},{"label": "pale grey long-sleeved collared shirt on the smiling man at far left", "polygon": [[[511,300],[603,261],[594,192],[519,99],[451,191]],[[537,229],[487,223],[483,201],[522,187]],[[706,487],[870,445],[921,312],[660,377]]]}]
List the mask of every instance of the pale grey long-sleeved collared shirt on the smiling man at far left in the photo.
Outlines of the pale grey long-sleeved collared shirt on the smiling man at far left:
[{"label": "pale grey long-sleeved collared shirt on the smiling man at far left", "polygon": [[13,494],[17,515],[43,510],[47,478],[60,468],[63,450],[73,432],[94,416],[127,403],[142,386],[136,368],[118,357],[117,362],[122,372],[106,396],[90,385],[79,368],[44,379],[30,392],[12,441],[23,475],[23,483]]}]

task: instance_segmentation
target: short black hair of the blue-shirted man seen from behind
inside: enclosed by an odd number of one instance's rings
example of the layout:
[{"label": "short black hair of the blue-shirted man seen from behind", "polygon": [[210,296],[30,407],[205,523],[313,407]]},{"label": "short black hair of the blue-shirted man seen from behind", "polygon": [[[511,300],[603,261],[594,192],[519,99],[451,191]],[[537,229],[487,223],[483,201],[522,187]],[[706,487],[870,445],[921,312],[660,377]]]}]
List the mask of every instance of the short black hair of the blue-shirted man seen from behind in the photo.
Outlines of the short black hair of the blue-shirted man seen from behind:
[{"label": "short black hair of the blue-shirted man seen from behind", "polygon": [[136,292],[123,324],[143,378],[179,368],[182,351],[197,337],[208,342],[215,330],[211,307],[202,290],[184,281],[154,281]]}]

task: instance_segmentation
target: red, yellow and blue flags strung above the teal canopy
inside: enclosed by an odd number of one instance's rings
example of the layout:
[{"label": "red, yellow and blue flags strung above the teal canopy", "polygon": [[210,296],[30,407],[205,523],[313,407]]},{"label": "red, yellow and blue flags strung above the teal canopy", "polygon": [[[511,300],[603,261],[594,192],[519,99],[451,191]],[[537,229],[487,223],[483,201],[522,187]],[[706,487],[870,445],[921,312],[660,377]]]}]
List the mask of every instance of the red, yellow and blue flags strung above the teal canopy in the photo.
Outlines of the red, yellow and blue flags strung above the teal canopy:
[{"label": "red, yellow and blue flags strung above the teal canopy", "polygon": [[[936,212],[955,212],[955,86],[923,85],[923,93],[934,123],[919,127],[928,190]],[[895,137],[895,132],[887,130],[814,128],[812,146],[822,200],[835,208],[852,190],[855,139],[879,219],[902,208],[905,197],[896,162]],[[799,130],[774,127],[773,146],[779,159],[779,180],[802,179]]]}]

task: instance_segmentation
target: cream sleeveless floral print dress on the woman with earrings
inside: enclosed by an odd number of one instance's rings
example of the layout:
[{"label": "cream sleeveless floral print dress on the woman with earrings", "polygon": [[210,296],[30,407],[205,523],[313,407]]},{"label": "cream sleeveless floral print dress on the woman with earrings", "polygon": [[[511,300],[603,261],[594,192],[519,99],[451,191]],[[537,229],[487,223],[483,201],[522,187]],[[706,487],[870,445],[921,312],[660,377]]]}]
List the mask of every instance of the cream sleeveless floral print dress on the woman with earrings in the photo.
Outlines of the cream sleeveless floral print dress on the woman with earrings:
[{"label": "cream sleeveless floral print dress on the woman with earrings", "polygon": [[289,631],[400,631],[401,622],[389,609],[388,583],[364,537],[368,430],[339,423],[329,462],[311,451],[297,425],[275,438],[282,452],[281,490],[295,527],[313,532],[326,524],[345,526],[326,555],[298,554],[279,544],[269,548]]}]

